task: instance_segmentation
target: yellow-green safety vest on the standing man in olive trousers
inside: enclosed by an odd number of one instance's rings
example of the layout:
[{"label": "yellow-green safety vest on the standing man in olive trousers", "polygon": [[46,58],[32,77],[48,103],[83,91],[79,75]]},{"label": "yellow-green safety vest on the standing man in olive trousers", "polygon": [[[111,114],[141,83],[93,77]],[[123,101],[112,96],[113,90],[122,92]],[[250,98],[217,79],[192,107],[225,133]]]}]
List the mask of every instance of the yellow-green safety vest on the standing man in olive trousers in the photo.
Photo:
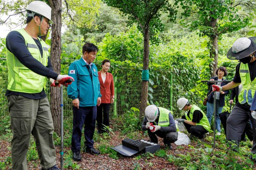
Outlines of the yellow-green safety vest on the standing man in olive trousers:
[{"label": "yellow-green safety vest on the standing man in olive trousers", "polygon": [[[40,39],[43,48],[43,57],[41,57],[36,42],[30,35],[28,35],[25,29],[22,28],[16,31],[24,37],[26,46],[31,55],[46,66],[49,56],[46,43]],[[8,90],[24,93],[39,93],[43,88],[44,90],[46,89],[46,77],[32,72],[26,66],[21,64],[17,57],[15,57],[7,48],[6,60],[8,66]]]}]

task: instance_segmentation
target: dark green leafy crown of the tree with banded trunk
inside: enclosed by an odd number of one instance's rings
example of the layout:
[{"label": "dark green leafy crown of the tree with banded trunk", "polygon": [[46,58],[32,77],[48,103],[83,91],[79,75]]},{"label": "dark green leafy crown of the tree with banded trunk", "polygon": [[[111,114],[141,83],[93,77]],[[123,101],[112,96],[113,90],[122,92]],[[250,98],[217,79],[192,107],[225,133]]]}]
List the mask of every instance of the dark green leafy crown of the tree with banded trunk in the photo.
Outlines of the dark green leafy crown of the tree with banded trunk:
[{"label": "dark green leafy crown of the tree with banded trunk", "polygon": [[145,33],[150,30],[152,42],[158,40],[158,32],[163,31],[164,25],[161,23],[160,16],[163,12],[168,13],[171,20],[175,20],[176,9],[168,0],[104,0],[106,4],[118,8],[125,16],[128,15],[128,25],[137,24],[138,29]]}]

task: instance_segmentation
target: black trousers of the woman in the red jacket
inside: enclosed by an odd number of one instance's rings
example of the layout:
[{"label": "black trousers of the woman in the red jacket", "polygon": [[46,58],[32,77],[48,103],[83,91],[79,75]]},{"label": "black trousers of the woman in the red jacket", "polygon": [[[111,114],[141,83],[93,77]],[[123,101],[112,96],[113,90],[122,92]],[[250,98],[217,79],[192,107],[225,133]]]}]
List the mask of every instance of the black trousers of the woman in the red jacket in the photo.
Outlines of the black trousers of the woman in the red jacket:
[{"label": "black trousers of the woman in the red jacket", "polygon": [[[103,109],[103,122],[102,122],[102,109]],[[104,130],[104,126],[109,127],[109,109],[110,109],[110,103],[102,103],[100,106],[97,106],[97,128],[99,133],[106,132]],[[102,125],[103,124],[103,125]]]}]

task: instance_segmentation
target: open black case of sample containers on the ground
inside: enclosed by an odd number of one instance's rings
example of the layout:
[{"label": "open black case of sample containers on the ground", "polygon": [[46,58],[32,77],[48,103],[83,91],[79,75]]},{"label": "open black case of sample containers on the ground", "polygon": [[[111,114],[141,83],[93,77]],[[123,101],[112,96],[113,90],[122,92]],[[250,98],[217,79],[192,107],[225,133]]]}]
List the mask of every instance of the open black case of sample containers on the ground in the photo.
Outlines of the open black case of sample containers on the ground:
[{"label": "open black case of sample containers on the ground", "polygon": [[129,138],[125,138],[122,140],[122,145],[118,147],[112,147],[111,149],[116,152],[124,155],[124,156],[132,156],[140,151],[146,153],[154,153],[157,150],[160,150],[160,145],[157,143],[153,143],[145,140],[133,140]]}]

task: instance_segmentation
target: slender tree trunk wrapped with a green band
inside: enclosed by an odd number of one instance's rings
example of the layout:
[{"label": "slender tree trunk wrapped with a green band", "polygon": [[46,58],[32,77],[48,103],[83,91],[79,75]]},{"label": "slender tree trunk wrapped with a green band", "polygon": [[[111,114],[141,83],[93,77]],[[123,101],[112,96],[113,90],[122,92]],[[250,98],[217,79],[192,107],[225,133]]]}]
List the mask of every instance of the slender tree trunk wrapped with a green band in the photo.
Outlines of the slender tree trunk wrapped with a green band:
[{"label": "slender tree trunk wrapped with a green band", "polygon": [[[149,65],[149,23],[145,26],[144,32],[144,57],[143,57],[143,70],[148,70]],[[140,102],[140,117],[145,114],[145,109],[148,102],[148,81],[142,81],[142,93]]]}]

